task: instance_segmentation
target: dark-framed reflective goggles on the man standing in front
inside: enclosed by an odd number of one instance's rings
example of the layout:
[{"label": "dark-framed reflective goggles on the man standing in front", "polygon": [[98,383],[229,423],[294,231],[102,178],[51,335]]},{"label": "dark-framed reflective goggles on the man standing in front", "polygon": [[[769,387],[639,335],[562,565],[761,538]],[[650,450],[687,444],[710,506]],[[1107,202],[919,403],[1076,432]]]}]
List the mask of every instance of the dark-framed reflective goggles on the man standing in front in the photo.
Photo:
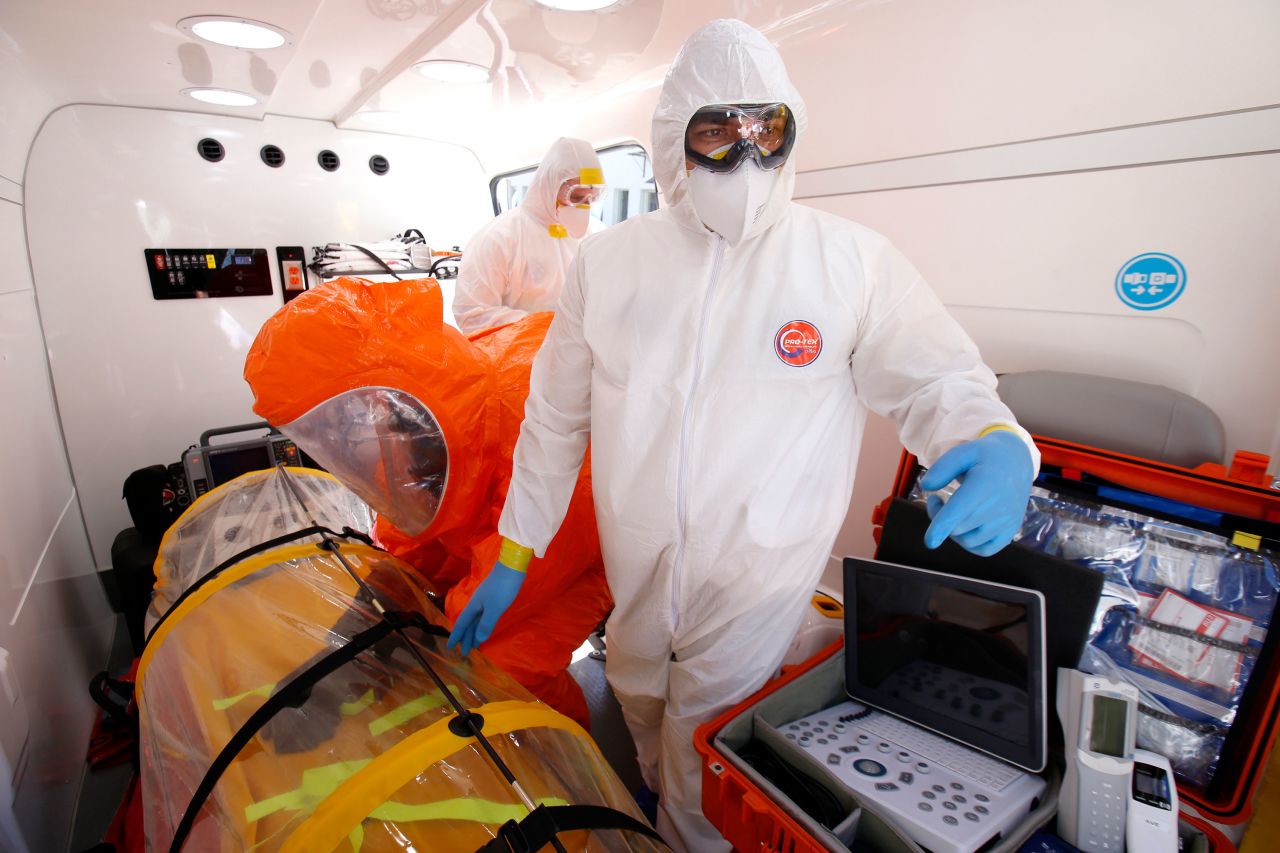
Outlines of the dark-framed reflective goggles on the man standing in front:
[{"label": "dark-framed reflective goggles on the man standing in front", "polygon": [[733,172],[748,158],[777,169],[795,141],[795,117],[786,104],[717,104],[689,119],[685,156],[710,172]]}]

